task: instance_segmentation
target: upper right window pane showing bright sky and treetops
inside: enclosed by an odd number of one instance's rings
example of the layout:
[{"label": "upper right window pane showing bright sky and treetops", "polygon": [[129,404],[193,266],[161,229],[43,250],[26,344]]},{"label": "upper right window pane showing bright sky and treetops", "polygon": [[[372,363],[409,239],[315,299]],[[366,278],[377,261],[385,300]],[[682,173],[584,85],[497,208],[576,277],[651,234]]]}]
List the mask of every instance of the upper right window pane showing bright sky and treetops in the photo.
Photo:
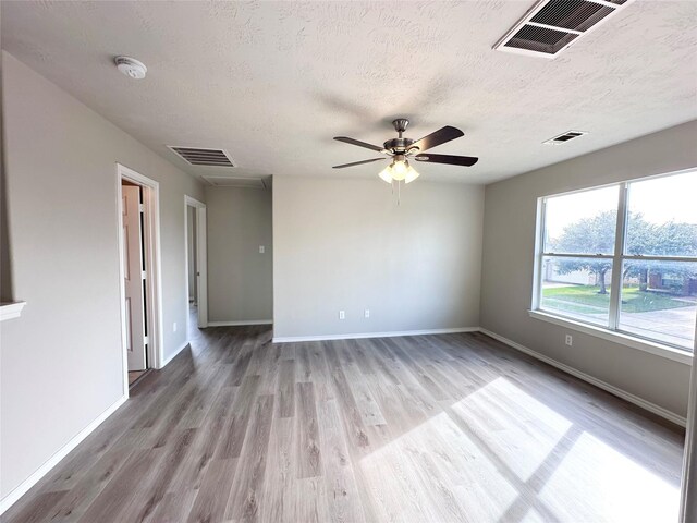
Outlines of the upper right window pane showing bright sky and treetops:
[{"label": "upper right window pane showing bright sky and treetops", "polygon": [[697,256],[697,172],[629,184],[625,254]]}]

